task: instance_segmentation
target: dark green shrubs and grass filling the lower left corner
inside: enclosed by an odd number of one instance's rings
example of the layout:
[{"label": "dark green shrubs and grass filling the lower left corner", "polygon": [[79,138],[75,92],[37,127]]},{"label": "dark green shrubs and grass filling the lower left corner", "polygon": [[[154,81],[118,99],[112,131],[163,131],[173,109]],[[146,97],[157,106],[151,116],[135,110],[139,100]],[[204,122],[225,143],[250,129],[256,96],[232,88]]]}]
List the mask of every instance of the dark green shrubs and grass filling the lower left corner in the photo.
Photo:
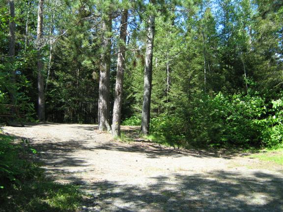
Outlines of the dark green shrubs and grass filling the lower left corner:
[{"label": "dark green shrubs and grass filling the lower left corner", "polygon": [[0,212],[78,212],[85,194],[46,179],[27,140],[0,135]]}]

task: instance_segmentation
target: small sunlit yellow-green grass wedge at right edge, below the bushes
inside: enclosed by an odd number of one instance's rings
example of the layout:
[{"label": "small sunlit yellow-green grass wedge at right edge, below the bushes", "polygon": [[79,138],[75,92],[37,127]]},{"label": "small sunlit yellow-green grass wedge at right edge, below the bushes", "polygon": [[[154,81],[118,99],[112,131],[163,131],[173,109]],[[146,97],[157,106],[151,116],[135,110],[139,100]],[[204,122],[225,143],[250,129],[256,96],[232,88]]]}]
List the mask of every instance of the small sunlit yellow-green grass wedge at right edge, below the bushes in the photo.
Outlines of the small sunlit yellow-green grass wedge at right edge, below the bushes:
[{"label": "small sunlit yellow-green grass wedge at right edge, below the bushes", "polygon": [[277,164],[283,165],[283,149],[278,150],[266,150],[249,156],[251,158],[257,158],[263,161],[272,161]]}]

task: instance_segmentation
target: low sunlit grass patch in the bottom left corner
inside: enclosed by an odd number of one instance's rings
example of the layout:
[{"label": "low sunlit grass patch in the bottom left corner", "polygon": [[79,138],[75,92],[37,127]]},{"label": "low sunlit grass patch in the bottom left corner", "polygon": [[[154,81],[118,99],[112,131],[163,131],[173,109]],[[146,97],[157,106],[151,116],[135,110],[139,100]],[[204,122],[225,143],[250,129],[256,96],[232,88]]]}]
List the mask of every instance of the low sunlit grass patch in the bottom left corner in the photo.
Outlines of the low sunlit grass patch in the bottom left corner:
[{"label": "low sunlit grass patch in the bottom left corner", "polygon": [[1,208],[6,212],[78,212],[83,198],[77,186],[48,180],[13,185],[0,197]]}]

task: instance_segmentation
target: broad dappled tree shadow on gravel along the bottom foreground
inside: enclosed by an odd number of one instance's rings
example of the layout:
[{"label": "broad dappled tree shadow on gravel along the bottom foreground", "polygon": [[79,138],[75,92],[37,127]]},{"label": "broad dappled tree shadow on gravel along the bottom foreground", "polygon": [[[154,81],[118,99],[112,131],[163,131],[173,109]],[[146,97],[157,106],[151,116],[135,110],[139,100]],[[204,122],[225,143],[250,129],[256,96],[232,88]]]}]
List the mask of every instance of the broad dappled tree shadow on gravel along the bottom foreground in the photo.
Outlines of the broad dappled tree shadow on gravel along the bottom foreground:
[{"label": "broad dappled tree shadow on gravel along the bottom foreground", "polygon": [[283,178],[272,174],[215,171],[148,180],[148,187],[115,182],[84,185],[93,195],[87,207],[105,212],[283,211]]}]

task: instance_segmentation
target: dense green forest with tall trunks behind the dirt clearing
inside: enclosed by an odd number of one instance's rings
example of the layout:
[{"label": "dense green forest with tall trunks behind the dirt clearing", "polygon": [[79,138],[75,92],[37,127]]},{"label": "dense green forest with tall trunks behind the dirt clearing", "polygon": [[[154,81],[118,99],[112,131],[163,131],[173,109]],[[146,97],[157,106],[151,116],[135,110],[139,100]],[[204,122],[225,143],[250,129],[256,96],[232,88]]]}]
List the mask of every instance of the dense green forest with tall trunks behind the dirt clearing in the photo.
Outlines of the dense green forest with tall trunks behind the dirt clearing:
[{"label": "dense green forest with tall trunks behind the dirt clearing", "polygon": [[280,0],[8,3],[0,97],[27,120],[114,136],[142,125],[183,147],[282,146]]}]

